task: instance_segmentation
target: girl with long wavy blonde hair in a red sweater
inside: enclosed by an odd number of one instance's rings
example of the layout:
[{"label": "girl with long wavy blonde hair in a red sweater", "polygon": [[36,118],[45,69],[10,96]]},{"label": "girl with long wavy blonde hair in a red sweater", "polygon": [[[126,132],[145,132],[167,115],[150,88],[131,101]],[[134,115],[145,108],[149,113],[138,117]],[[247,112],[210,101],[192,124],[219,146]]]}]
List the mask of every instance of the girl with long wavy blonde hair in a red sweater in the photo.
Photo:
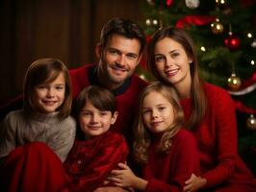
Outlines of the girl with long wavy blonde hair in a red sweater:
[{"label": "girl with long wavy blonde hair in a red sweater", "polygon": [[141,191],[183,191],[185,180],[199,172],[199,155],[191,132],[182,129],[183,110],[171,86],[149,84],[140,98],[134,126],[133,154],[142,165],[142,178],[124,163],[108,178],[116,186]]}]

